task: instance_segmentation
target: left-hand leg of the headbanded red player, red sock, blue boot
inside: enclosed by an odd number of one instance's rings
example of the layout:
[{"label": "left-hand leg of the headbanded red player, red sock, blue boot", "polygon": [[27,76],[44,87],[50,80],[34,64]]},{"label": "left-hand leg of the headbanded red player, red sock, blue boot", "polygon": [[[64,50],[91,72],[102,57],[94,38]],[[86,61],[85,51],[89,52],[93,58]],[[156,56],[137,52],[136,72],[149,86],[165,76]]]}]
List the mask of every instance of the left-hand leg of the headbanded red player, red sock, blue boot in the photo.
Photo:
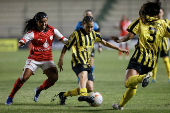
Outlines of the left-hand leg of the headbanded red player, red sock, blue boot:
[{"label": "left-hand leg of the headbanded red player, red sock, blue boot", "polygon": [[30,76],[33,74],[33,71],[29,68],[24,69],[23,74],[20,78],[18,78],[13,86],[13,89],[10,93],[10,95],[7,98],[7,101],[5,102],[6,105],[10,105],[13,102],[13,98],[17,91],[22,87],[22,85],[30,78]]}]

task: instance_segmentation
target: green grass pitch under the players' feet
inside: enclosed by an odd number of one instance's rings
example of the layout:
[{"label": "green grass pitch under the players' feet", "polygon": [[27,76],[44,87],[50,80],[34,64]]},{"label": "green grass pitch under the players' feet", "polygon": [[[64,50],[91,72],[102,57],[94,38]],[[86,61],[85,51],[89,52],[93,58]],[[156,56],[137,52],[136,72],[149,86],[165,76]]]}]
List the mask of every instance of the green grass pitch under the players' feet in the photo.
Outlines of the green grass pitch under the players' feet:
[{"label": "green grass pitch under the players' feet", "polygon": [[[53,50],[53,59],[57,64],[61,50]],[[133,51],[130,51],[130,55]],[[59,72],[59,79],[54,86],[42,91],[38,102],[33,101],[34,89],[40,86],[47,77],[38,69],[35,75],[17,92],[14,102],[5,105],[7,96],[18,77],[28,57],[28,50],[0,53],[0,113],[169,113],[170,111],[170,83],[166,75],[162,58],[158,61],[156,83],[143,88],[138,85],[136,95],[127,103],[123,111],[113,110],[112,103],[117,103],[126,88],[124,74],[128,60],[118,60],[115,50],[95,51],[95,82],[94,91],[103,96],[103,103],[99,107],[90,107],[86,102],[78,102],[75,97],[68,97],[66,105],[59,105],[59,99],[51,102],[51,98],[61,91],[68,91],[78,87],[77,77],[71,69],[71,51],[64,57],[63,72]],[[58,70],[59,71],[59,70]]]}]

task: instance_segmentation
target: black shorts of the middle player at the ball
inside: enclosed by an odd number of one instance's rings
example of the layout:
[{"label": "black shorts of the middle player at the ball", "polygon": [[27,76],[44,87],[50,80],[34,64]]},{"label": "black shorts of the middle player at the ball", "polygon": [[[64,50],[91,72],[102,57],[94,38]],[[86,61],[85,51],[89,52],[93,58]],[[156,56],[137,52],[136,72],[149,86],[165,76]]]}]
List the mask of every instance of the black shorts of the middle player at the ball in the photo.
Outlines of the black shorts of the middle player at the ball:
[{"label": "black shorts of the middle player at the ball", "polygon": [[88,65],[78,64],[78,65],[74,66],[72,69],[76,73],[77,77],[78,77],[79,73],[81,73],[82,71],[87,71],[88,72],[88,80],[94,81],[93,74],[91,72],[91,68]]}]

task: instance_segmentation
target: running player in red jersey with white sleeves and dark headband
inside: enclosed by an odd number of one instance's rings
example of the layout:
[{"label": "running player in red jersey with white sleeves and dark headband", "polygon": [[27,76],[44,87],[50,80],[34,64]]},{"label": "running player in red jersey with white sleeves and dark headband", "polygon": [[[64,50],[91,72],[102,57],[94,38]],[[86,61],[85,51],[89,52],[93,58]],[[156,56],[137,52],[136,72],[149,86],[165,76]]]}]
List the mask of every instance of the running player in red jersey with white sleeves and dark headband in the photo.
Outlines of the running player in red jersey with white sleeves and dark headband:
[{"label": "running player in red jersey with white sleeves and dark headband", "polygon": [[16,92],[38,68],[43,70],[43,73],[46,74],[48,79],[42,85],[35,88],[35,95],[33,97],[35,102],[38,101],[42,90],[53,86],[58,80],[58,71],[52,59],[52,42],[53,38],[56,38],[65,44],[67,39],[56,28],[48,25],[48,17],[44,12],[38,12],[33,19],[26,21],[25,32],[27,33],[19,41],[18,46],[24,46],[28,41],[31,41],[33,47],[30,50],[30,55],[26,60],[21,77],[16,80],[5,102],[6,105],[10,105],[13,102]]}]

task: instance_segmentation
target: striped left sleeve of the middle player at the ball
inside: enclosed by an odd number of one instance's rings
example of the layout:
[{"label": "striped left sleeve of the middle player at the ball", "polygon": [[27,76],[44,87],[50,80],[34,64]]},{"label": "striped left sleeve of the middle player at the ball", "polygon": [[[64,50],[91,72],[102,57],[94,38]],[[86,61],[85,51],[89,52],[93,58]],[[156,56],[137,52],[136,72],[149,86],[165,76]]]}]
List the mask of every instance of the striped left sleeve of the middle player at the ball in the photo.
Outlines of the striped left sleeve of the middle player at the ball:
[{"label": "striped left sleeve of the middle player at the ball", "polygon": [[73,33],[70,35],[70,37],[69,37],[67,43],[65,44],[65,46],[66,46],[67,49],[69,50],[69,49],[73,46],[73,44],[75,44],[75,42],[76,42],[76,36],[75,36],[75,33],[73,32]]}]

